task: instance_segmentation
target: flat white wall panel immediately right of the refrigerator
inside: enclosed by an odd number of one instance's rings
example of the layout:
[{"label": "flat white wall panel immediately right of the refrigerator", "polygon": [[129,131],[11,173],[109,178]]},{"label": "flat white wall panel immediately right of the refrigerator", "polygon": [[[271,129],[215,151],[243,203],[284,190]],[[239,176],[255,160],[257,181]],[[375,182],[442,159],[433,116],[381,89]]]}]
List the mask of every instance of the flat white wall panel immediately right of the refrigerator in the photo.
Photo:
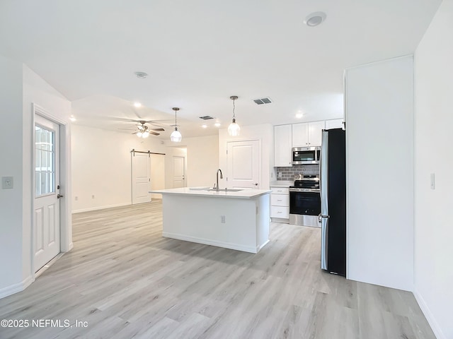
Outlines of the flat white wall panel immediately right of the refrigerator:
[{"label": "flat white wall panel immediately right of the refrigerator", "polygon": [[346,71],[349,279],[413,290],[413,57]]}]

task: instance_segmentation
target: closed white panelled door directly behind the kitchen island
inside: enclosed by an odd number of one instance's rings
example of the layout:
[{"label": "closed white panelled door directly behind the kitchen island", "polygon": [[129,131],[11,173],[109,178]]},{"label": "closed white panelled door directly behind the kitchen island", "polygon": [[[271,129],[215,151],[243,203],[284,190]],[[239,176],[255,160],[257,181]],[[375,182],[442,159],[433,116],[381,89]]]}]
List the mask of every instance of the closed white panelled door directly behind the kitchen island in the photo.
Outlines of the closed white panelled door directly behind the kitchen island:
[{"label": "closed white panelled door directly behind the kitchen island", "polygon": [[260,142],[231,141],[227,145],[229,188],[259,189]]}]

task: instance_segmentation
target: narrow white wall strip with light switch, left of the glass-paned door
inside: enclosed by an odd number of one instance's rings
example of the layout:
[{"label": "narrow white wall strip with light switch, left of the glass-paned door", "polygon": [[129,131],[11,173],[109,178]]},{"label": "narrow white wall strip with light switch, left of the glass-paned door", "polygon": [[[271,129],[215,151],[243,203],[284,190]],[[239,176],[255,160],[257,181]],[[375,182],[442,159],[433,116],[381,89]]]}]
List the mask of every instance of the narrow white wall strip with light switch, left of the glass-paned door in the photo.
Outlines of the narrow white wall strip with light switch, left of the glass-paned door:
[{"label": "narrow white wall strip with light switch, left of the glass-paned door", "polygon": [[22,270],[23,226],[30,222],[22,217],[22,97],[22,64],[0,56],[0,177],[13,177],[14,184],[0,188],[0,297],[29,274]]}]

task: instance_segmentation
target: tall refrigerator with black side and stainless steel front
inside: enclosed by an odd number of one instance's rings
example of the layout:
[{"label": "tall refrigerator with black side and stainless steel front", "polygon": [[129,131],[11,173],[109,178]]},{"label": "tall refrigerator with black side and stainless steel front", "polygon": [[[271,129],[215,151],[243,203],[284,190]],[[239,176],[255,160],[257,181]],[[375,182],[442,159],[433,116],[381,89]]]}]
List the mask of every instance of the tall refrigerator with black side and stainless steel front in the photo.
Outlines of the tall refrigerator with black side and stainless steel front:
[{"label": "tall refrigerator with black side and stainless steel front", "polygon": [[346,138],[343,129],[322,132],[321,268],[346,276]]}]

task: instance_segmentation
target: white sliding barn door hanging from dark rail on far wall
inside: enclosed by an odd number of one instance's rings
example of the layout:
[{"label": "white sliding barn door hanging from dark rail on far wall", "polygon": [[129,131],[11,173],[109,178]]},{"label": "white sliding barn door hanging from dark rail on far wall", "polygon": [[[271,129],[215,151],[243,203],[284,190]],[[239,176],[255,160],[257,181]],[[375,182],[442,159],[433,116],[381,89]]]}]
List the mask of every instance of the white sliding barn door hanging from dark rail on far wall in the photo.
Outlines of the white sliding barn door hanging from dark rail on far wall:
[{"label": "white sliding barn door hanging from dark rail on far wall", "polygon": [[132,152],[132,204],[151,201],[151,165],[149,153]]}]

